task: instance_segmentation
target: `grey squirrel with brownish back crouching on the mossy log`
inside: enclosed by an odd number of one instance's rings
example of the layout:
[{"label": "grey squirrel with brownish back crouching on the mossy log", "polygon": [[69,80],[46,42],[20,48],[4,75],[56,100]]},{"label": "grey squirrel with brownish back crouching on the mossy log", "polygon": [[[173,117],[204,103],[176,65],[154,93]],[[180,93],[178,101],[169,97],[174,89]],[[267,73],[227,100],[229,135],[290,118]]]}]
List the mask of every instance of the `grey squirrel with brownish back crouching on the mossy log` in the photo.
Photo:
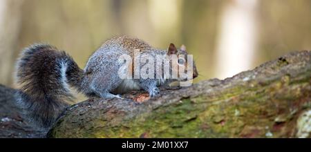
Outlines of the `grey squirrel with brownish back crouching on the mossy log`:
[{"label": "grey squirrel with brownish back crouching on the mossy log", "polygon": [[[117,71],[122,66],[118,61],[120,55],[134,56],[133,50],[155,57],[164,55],[187,55],[185,46],[177,49],[173,44],[166,50],[153,48],[145,41],[128,36],[113,37],[102,44],[82,70],[73,58],[62,50],[48,44],[34,44],[25,48],[17,60],[17,83],[21,86],[19,104],[40,126],[49,127],[69,106],[66,101],[73,99],[69,86],[77,88],[87,97],[120,97],[113,93],[126,93],[143,89],[150,97],[160,93],[158,86],[185,79],[120,79]],[[187,64],[187,59],[182,59]],[[179,60],[178,60],[179,61]],[[131,67],[129,67],[131,68]],[[170,65],[169,70],[172,70]],[[196,65],[191,69],[193,78],[198,77]]]}]

